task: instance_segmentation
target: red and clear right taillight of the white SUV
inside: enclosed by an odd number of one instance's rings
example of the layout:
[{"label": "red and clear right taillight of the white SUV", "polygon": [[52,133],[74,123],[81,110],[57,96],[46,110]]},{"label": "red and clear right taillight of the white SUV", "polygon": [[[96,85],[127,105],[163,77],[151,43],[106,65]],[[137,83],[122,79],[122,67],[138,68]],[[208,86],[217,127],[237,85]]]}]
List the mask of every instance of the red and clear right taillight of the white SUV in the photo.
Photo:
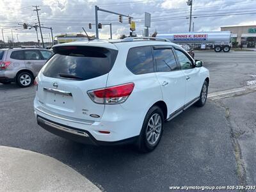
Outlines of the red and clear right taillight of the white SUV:
[{"label": "red and clear right taillight of the white SUV", "polygon": [[92,90],[88,92],[88,95],[93,102],[99,104],[120,104],[127,100],[129,95],[131,95],[133,88],[134,83],[127,83],[99,90]]}]

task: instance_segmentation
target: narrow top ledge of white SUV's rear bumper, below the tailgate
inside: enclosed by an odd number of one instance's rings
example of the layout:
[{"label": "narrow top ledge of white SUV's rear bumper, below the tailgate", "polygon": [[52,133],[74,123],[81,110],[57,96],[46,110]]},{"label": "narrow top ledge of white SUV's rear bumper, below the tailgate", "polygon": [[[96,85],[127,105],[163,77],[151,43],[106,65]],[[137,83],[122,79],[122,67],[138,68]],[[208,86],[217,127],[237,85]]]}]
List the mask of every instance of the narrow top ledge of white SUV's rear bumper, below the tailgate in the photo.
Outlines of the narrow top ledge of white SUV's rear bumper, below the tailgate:
[{"label": "narrow top ledge of white SUV's rear bumper, below the tailgate", "polygon": [[[74,122],[74,123],[77,123],[77,124],[84,124],[84,125],[92,125],[94,123],[94,121],[90,121],[90,120],[77,120],[76,118],[71,118],[71,117],[67,117],[67,116],[64,116],[64,115],[58,115],[56,113],[49,113],[47,112],[48,110],[47,109],[42,109],[42,108],[35,108],[35,111],[39,111],[41,113],[44,113],[45,115],[49,115],[49,116],[52,116],[54,118],[58,118],[60,120],[65,120],[65,121],[68,121],[68,122]],[[47,110],[47,111],[46,111]]]}]

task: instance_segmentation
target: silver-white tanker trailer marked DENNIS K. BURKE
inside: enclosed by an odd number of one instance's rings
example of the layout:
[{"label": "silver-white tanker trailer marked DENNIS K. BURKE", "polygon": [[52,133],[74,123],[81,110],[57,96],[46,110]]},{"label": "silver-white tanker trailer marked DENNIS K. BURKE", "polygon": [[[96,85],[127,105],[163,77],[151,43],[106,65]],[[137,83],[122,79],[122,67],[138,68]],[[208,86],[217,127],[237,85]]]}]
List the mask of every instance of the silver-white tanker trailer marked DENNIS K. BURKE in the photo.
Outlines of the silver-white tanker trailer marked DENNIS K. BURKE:
[{"label": "silver-white tanker trailer marked DENNIS K. BURKE", "polygon": [[156,37],[167,38],[175,44],[188,44],[193,48],[214,49],[216,52],[229,52],[232,47],[230,31],[163,33]]}]

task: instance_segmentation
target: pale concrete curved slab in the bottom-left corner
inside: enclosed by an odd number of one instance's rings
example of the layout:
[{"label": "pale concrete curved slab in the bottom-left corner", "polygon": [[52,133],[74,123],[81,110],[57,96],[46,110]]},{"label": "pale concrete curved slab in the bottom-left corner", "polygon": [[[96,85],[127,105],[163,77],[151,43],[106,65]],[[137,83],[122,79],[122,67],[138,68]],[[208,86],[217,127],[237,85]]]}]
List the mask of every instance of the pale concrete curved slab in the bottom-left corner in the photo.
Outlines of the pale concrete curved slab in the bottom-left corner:
[{"label": "pale concrete curved slab in the bottom-left corner", "polygon": [[0,180],[0,191],[100,191],[52,157],[4,146],[0,146]]}]

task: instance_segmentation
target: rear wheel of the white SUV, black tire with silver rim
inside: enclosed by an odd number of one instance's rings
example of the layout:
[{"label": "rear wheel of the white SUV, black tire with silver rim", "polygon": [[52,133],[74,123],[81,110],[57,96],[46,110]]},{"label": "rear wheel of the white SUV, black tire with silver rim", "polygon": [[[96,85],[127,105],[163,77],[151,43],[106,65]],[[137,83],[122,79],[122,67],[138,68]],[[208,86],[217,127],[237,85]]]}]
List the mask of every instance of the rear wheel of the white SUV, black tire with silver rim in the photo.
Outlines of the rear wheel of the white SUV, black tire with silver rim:
[{"label": "rear wheel of the white SUV, black tire with silver rim", "polygon": [[140,152],[151,152],[154,150],[161,140],[163,128],[163,111],[158,106],[152,106],[152,108],[148,110],[141,128],[138,150],[140,150]]}]

